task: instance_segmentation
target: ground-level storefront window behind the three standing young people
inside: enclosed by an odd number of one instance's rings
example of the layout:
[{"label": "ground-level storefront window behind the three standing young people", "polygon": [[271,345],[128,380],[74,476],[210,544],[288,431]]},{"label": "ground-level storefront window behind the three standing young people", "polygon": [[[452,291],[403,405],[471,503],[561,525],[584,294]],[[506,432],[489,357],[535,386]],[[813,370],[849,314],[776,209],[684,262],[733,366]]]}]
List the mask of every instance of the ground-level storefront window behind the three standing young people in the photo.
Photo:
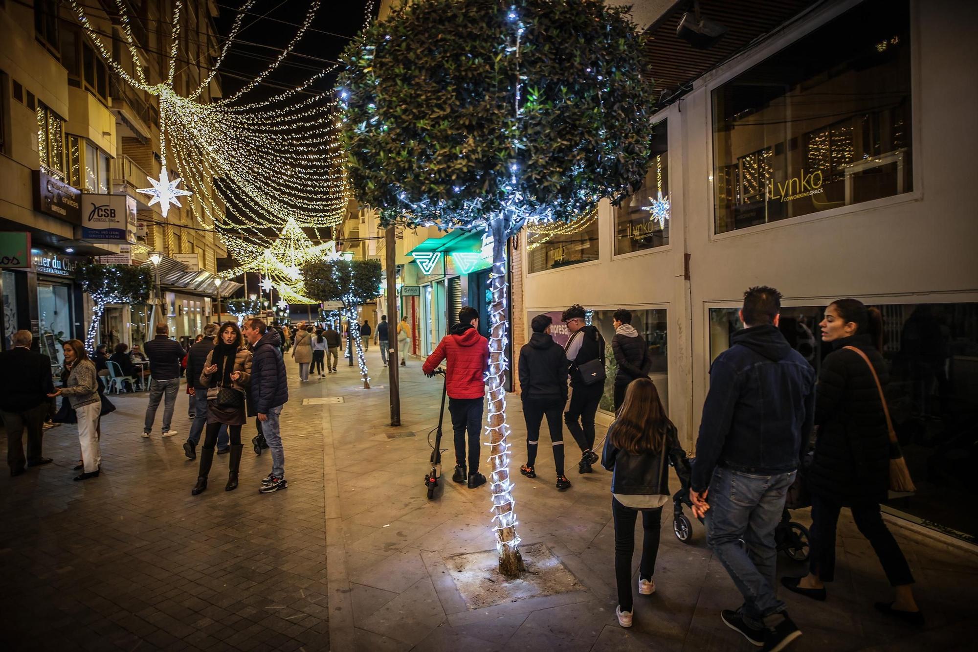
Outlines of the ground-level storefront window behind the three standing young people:
[{"label": "ground-level storefront window behind the three standing young people", "polygon": [[[646,310],[640,308],[629,308],[632,312],[632,326],[639,331],[645,339],[645,346],[648,348],[648,357],[651,360],[651,370],[649,378],[655,383],[662,405],[669,411],[669,361],[666,338],[666,310]],[[554,341],[561,347],[566,346],[570,334],[567,327],[560,321],[560,311],[554,312],[528,312],[526,323],[530,323],[533,317],[538,314],[548,314],[554,320],[551,327],[551,334]],[[600,331],[604,338],[604,371],[606,379],[604,381],[604,394],[601,395],[600,409],[606,412],[614,411],[614,376],[618,370],[618,364],[614,359],[614,352],[611,350],[611,338],[614,337],[614,324],[612,317],[614,310],[592,310],[589,318],[591,324]],[[515,349],[522,346],[520,343]]]}]

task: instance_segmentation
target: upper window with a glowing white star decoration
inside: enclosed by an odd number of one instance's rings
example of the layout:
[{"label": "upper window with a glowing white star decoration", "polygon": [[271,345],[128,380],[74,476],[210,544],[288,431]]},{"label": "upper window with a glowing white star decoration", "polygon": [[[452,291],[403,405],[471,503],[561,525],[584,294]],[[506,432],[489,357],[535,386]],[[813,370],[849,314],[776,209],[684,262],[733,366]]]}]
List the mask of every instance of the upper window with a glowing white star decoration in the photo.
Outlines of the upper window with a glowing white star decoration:
[{"label": "upper window with a glowing white star decoration", "polygon": [[615,255],[669,244],[669,147],[666,121],[655,125],[645,182],[614,209]]}]

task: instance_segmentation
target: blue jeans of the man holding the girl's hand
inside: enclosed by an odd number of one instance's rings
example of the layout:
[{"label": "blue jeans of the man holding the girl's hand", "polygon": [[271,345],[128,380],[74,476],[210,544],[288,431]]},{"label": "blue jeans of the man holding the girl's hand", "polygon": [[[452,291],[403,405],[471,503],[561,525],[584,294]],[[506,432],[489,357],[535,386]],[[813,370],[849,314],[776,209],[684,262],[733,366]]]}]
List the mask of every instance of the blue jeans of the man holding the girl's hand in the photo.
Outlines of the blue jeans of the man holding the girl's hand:
[{"label": "blue jeans of the man holding the girl's hand", "polygon": [[765,617],[786,609],[775,588],[775,528],[795,473],[757,475],[717,467],[710,482],[706,541],[743,595],[739,611],[744,622],[755,628],[764,627]]}]

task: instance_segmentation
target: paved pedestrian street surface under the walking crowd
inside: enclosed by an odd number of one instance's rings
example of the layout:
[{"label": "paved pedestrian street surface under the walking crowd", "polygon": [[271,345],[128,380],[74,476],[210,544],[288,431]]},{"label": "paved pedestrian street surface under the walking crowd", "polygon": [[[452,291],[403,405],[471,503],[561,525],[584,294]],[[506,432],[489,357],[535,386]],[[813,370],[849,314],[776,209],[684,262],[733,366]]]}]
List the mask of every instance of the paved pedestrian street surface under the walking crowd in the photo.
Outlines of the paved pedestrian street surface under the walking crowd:
[{"label": "paved pedestrian street surface under the walking crowd", "polygon": [[[418,360],[402,367],[403,426],[392,429],[386,370],[376,349],[368,359],[369,391],[343,360],[338,374],[303,385],[289,360],[282,428],[289,489],[270,495],[257,487],[271,460],[251,452],[247,426],[239,489],[223,490],[222,455],[209,489],[191,496],[197,463],[181,448],[189,426],[182,389],[179,435],[168,440],[159,437],[161,413],[153,438],[140,437],[146,395],[111,396],[118,409],[103,420],[98,479],[71,482],[73,425],[47,431],[45,453],[55,463],[0,481],[0,649],[751,649],[720,620],[720,609],[739,604],[738,594],[702,526],[693,521],[691,542],[680,542],[668,507],[657,590],[636,595],[632,629],[618,627],[609,474],[578,475],[576,447],[566,437],[571,489],[554,488],[546,446],[538,477],[518,476],[525,435],[512,395],[517,530],[525,543],[545,544],[582,590],[468,609],[446,558],[494,547],[488,487],[452,483],[449,450],[447,475],[427,499],[422,482],[440,381],[424,378]],[[343,400],[303,404],[331,397]],[[442,447],[451,448],[450,434]],[[808,523],[804,510],[795,518]],[[889,587],[844,515],[828,601],[782,596],[804,632],[792,649],[973,649],[978,559],[894,530],[918,582],[926,628],[905,628],[874,611]],[[783,572],[802,573],[783,555],[778,561]]]}]

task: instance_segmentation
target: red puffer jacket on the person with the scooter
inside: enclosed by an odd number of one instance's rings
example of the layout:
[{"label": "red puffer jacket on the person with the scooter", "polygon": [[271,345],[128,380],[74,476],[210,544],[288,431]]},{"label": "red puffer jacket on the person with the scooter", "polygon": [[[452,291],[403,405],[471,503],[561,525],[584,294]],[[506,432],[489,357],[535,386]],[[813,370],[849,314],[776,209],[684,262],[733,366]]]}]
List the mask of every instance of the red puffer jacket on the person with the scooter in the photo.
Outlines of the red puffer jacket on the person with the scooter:
[{"label": "red puffer jacket on the person with the scooter", "polygon": [[429,374],[448,359],[445,382],[451,398],[481,398],[485,395],[486,369],[489,368],[489,341],[471,324],[456,324],[424,360],[422,370]]}]

